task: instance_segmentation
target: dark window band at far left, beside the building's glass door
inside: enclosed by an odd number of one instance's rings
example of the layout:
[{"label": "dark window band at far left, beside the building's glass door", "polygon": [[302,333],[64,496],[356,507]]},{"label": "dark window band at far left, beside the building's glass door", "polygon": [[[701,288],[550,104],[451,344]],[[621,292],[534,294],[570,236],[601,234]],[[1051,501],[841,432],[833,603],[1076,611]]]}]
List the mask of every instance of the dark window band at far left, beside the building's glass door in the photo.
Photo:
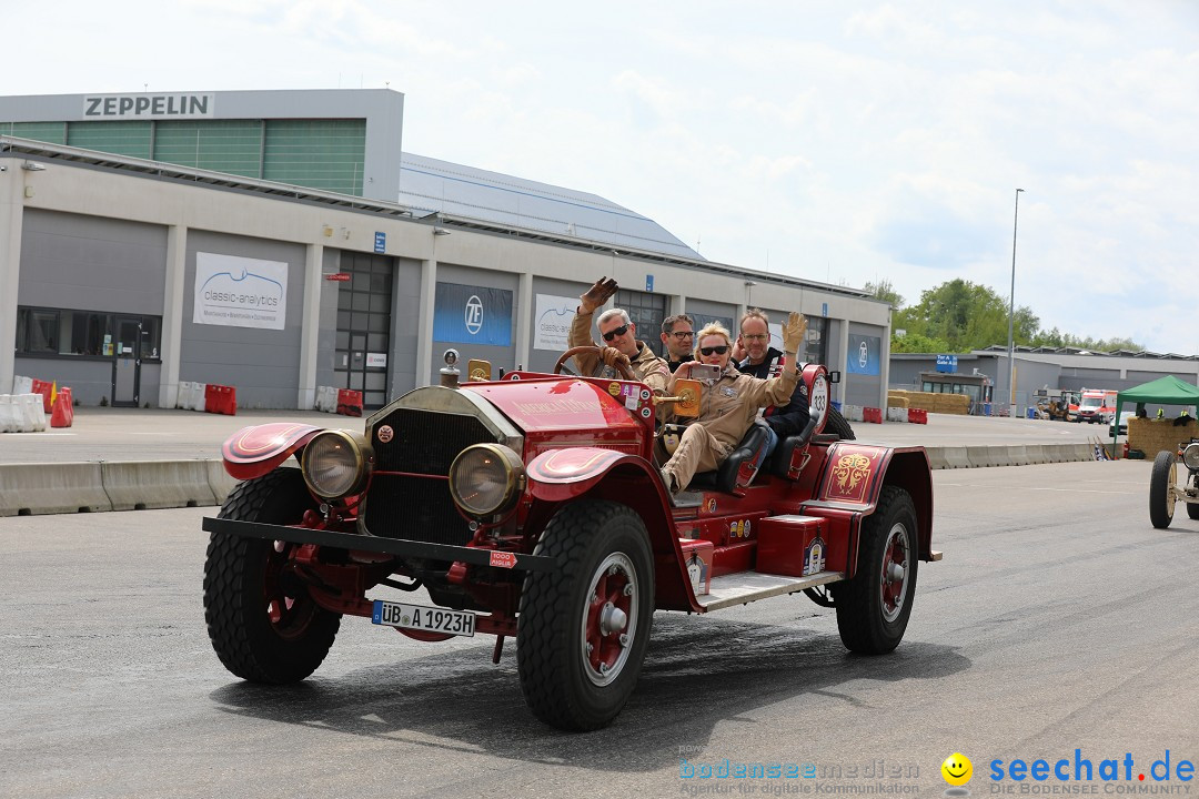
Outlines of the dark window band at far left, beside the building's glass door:
[{"label": "dark window band at far left, beside the building's glass door", "polygon": [[106,314],[62,308],[17,309],[17,353],[26,356],[113,357],[115,319],[141,321],[141,358],[158,359],[162,317]]}]

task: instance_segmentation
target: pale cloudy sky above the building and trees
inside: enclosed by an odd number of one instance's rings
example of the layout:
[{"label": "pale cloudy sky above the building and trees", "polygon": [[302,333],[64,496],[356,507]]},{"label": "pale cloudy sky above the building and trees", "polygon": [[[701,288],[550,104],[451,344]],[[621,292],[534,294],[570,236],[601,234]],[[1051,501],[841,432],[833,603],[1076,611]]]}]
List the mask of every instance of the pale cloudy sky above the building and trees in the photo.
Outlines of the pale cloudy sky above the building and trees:
[{"label": "pale cloudy sky above the building and trees", "polygon": [[66,0],[6,95],[390,86],[405,150],[594,192],[706,258],[1199,353],[1199,4]]}]

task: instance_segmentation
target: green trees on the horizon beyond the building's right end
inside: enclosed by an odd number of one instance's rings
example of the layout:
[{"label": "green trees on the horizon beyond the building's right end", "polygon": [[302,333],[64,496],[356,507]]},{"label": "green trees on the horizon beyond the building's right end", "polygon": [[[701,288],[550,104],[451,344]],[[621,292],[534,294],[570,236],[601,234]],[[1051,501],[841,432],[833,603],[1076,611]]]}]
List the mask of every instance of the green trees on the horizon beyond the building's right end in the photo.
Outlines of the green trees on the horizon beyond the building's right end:
[{"label": "green trees on the horizon beyond the building's right end", "polygon": [[[890,280],[867,283],[866,290],[894,307],[892,352],[950,353],[1007,346],[1007,299],[989,286],[956,278],[922,291],[920,302],[910,307]],[[1012,340],[1017,346],[1071,346],[1093,352],[1145,349],[1132,339],[1079,338],[1056,327],[1042,329],[1041,319],[1026,305],[1012,314]]]}]

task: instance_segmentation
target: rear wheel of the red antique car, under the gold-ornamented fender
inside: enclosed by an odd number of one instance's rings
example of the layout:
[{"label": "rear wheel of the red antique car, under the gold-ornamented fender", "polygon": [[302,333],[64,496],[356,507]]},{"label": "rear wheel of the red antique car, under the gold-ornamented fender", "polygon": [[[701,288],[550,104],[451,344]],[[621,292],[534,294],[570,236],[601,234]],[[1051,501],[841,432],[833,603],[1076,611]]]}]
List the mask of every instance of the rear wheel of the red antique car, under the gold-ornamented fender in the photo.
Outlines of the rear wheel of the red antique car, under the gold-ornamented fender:
[{"label": "rear wheel of the red antique car, under the gold-ornamented fender", "polygon": [[862,523],[857,573],[832,585],[837,629],[851,652],[878,655],[903,640],[916,593],[916,508],[903,489],[885,485]]}]

